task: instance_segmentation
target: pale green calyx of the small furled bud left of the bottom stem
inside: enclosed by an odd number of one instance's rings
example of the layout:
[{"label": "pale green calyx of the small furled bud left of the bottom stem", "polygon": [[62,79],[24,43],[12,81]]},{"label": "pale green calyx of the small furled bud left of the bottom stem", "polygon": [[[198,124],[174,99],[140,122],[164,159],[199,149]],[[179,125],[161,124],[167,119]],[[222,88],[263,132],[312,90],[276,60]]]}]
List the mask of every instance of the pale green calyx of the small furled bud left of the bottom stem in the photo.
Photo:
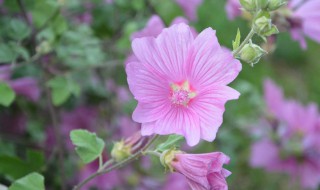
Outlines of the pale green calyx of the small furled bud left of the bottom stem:
[{"label": "pale green calyx of the small furled bud left of the bottom stem", "polygon": [[126,145],[124,141],[114,143],[111,150],[111,157],[116,161],[120,162],[131,155],[131,147]]}]

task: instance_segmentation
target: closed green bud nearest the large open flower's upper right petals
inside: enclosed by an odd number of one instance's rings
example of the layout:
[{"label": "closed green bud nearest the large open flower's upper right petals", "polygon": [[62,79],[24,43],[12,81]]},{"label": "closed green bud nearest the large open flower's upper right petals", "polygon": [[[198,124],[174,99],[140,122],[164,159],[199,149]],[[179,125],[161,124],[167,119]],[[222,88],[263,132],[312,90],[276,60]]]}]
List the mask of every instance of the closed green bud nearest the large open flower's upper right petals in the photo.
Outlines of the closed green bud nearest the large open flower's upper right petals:
[{"label": "closed green bud nearest the large open flower's upper right petals", "polygon": [[240,59],[249,63],[251,66],[258,63],[260,58],[267,52],[264,51],[260,46],[253,44],[251,41],[246,44],[241,52]]}]

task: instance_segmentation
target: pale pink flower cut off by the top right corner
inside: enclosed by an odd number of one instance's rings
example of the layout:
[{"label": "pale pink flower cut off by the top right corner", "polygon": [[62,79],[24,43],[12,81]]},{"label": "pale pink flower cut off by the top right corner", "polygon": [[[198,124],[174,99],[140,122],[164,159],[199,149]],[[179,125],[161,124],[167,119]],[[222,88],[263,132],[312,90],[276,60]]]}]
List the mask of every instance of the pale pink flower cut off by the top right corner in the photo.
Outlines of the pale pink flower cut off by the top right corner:
[{"label": "pale pink flower cut off by the top right corner", "polygon": [[307,48],[304,35],[320,43],[320,1],[292,1],[289,9],[293,11],[289,18],[292,38],[303,49]]}]

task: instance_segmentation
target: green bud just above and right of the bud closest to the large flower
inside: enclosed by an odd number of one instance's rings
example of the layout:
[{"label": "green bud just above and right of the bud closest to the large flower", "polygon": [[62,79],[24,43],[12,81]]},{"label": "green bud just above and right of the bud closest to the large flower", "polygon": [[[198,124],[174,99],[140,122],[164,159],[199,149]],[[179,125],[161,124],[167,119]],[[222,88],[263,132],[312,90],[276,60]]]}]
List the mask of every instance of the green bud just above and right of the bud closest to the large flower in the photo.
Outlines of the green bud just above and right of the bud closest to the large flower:
[{"label": "green bud just above and right of the bud closest to the large flower", "polygon": [[278,28],[272,24],[270,14],[268,12],[260,12],[253,22],[254,31],[262,36],[271,36],[272,34],[279,33]]}]

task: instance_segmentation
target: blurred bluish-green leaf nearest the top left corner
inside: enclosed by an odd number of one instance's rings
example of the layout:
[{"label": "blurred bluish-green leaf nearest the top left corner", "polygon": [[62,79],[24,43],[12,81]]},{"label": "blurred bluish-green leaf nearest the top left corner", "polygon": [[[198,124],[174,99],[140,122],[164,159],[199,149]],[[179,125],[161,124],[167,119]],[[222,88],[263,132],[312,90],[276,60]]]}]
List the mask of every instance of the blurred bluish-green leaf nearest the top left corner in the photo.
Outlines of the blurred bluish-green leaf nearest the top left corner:
[{"label": "blurred bluish-green leaf nearest the top left corner", "polygon": [[12,19],[9,23],[9,36],[14,40],[23,40],[31,33],[29,26],[19,19]]}]

